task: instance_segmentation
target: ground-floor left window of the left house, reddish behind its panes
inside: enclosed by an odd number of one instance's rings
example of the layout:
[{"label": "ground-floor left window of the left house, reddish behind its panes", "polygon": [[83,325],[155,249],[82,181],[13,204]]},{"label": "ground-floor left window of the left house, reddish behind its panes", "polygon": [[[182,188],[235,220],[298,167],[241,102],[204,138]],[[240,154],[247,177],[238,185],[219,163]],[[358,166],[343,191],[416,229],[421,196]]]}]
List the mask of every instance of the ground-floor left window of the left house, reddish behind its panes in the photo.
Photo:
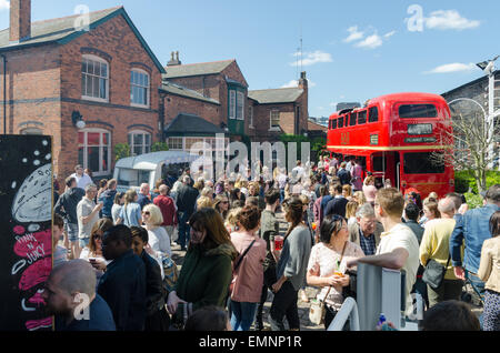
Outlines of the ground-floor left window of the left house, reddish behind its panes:
[{"label": "ground-floor left window of the left house, reddish behind its panes", "polygon": [[94,176],[111,174],[111,133],[102,129],[78,132],[78,163],[92,171]]}]

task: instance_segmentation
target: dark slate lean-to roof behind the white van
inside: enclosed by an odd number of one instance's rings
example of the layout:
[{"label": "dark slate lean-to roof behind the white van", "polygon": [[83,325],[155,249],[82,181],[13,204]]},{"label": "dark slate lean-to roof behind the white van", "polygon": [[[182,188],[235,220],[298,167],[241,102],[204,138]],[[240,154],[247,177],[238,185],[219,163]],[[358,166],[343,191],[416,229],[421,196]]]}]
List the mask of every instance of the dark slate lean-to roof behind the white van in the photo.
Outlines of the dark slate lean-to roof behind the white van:
[{"label": "dark slate lean-to roof behind the white van", "polygon": [[164,128],[166,137],[174,135],[203,135],[211,137],[224,133],[224,130],[198,115],[179,113],[170,124]]}]

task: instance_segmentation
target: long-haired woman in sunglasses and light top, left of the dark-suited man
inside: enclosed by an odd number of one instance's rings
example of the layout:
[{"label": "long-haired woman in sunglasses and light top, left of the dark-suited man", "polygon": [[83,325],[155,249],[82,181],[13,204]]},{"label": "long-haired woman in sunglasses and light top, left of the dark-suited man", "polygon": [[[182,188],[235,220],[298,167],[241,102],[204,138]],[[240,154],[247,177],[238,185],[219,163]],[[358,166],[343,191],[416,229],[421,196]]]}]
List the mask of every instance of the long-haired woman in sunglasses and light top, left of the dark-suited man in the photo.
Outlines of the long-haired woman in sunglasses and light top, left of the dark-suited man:
[{"label": "long-haired woman in sunglasses and light top, left of the dark-suited man", "polygon": [[102,235],[107,230],[113,226],[113,222],[110,219],[100,219],[92,226],[90,232],[89,245],[83,248],[80,253],[80,259],[87,260],[96,269],[97,283],[104,273],[106,266],[109,261],[102,255]]}]

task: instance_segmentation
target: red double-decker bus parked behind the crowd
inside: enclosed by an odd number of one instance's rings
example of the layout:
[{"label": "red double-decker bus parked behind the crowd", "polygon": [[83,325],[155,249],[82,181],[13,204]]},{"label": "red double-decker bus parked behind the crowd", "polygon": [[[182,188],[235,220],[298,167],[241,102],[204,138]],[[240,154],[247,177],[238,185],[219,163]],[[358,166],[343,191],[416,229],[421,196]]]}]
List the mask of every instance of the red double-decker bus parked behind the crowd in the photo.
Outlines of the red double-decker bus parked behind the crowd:
[{"label": "red double-decker bus parked behind the crowd", "polygon": [[454,191],[453,169],[437,158],[452,148],[440,143],[451,129],[441,95],[388,94],[330,115],[327,145],[340,160],[356,157],[364,173],[373,173],[378,188],[389,179],[403,193],[414,188],[422,199],[432,191],[442,196]]}]

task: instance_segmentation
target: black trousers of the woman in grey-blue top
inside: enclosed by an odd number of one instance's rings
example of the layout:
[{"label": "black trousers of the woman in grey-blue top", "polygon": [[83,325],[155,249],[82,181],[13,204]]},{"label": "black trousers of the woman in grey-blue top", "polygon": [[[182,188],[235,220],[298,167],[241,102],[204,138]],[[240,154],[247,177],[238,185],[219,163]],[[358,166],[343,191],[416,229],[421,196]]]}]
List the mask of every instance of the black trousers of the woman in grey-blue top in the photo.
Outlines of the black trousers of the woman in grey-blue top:
[{"label": "black trousers of the woman in grey-blue top", "polygon": [[284,331],[284,316],[290,330],[300,330],[299,311],[297,307],[299,291],[287,281],[278,293],[274,294],[270,311],[270,323],[272,331]]}]

